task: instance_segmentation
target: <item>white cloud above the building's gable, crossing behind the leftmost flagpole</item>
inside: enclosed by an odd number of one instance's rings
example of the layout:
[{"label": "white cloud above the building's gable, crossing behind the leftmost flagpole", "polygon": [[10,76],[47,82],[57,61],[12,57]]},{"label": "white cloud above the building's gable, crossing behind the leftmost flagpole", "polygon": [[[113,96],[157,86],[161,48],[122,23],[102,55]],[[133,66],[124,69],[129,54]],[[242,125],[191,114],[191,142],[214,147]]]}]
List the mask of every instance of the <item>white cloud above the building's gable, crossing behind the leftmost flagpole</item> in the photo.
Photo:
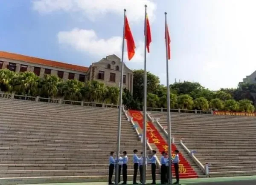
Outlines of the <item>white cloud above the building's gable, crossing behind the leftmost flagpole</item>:
[{"label": "white cloud above the building's gable, crossing behind the leftmost flagpole", "polygon": [[[58,42],[75,48],[77,51],[87,52],[95,57],[116,54],[121,57],[122,37],[111,37],[109,39],[99,39],[94,30],[74,28],[71,31],[60,31],[57,34]],[[131,62],[143,62],[143,42],[138,42],[135,55]],[[126,48],[126,46],[125,46]],[[124,61],[127,52],[124,53]]]}]

